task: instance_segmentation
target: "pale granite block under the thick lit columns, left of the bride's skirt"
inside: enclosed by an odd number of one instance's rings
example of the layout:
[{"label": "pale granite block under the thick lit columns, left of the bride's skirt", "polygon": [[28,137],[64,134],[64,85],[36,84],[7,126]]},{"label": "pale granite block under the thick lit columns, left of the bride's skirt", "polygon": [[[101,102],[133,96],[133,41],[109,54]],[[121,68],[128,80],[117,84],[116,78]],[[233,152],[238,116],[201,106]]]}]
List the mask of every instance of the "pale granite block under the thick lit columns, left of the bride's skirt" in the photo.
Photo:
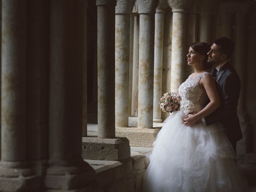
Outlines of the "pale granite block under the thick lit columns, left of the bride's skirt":
[{"label": "pale granite block under the thick lit columns, left of the bride's skirt", "polygon": [[132,147],[153,147],[161,128],[116,127],[117,137],[126,137]]}]

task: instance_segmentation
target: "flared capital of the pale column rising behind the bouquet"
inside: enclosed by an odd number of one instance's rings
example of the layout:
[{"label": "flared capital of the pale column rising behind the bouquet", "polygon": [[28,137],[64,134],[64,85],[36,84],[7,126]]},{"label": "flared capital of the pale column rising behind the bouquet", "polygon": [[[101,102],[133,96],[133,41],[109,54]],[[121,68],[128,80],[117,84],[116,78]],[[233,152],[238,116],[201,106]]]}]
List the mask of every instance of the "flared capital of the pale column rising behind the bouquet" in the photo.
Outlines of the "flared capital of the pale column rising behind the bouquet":
[{"label": "flared capital of the pale column rising behind the bouquet", "polygon": [[172,12],[187,12],[188,8],[195,0],[167,0]]}]

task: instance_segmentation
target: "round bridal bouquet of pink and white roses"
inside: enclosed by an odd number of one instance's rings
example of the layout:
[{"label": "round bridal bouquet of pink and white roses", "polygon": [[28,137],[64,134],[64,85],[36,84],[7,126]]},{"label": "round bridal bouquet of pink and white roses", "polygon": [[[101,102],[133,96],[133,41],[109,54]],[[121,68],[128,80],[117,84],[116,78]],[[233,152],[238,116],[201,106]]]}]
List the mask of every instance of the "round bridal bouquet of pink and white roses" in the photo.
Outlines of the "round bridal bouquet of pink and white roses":
[{"label": "round bridal bouquet of pink and white roses", "polygon": [[165,93],[160,98],[159,104],[163,112],[172,113],[180,109],[181,98],[175,92]]}]

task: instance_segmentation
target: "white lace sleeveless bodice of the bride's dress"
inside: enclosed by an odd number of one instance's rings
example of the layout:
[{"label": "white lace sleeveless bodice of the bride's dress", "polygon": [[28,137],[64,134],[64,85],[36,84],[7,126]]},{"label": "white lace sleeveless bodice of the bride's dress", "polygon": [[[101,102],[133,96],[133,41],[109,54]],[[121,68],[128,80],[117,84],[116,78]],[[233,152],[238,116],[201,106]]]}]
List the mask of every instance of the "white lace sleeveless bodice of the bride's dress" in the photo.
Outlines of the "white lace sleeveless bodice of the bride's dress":
[{"label": "white lace sleeveless bodice of the bride's dress", "polygon": [[191,74],[179,87],[182,103],[185,101],[192,102],[194,104],[193,111],[196,112],[202,110],[209,102],[205,89],[199,86],[200,79],[206,74],[208,74],[208,72],[203,72],[194,77],[192,77]]}]

